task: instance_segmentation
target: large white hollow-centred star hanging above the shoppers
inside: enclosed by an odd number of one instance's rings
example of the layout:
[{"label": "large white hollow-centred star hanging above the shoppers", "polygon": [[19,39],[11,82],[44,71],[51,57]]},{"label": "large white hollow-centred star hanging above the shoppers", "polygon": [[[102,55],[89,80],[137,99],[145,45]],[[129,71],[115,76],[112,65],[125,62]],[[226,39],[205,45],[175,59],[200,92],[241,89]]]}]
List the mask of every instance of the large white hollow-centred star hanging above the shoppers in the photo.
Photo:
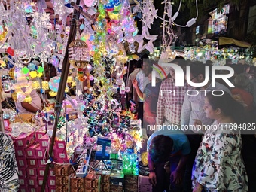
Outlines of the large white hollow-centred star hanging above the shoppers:
[{"label": "large white hollow-centred star hanging above the shoppers", "polygon": [[[145,40],[149,40],[148,43],[145,43]],[[153,42],[157,40],[157,35],[150,35],[147,27],[142,28],[142,35],[136,35],[134,40],[139,43],[137,52],[142,53],[143,50],[148,50],[150,53],[154,52]]]}]

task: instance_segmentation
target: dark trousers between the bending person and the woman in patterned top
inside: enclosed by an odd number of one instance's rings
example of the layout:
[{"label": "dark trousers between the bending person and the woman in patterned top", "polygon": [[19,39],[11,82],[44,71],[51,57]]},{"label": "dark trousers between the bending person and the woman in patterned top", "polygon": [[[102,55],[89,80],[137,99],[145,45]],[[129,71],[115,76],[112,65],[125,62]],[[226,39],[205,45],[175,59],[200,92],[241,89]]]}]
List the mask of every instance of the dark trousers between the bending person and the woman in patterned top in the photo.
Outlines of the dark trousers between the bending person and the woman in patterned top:
[{"label": "dark trousers between the bending person and the woman in patterned top", "polygon": [[195,161],[195,157],[197,155],[197,150],[200,147],[200,143],[202,141],[202,135],[198,135],[195,133],[186,133],[187,139],[190,142],[191,152],[187,158],[187,165],[184,172],[184,192],[192,192],[192,169]]}]

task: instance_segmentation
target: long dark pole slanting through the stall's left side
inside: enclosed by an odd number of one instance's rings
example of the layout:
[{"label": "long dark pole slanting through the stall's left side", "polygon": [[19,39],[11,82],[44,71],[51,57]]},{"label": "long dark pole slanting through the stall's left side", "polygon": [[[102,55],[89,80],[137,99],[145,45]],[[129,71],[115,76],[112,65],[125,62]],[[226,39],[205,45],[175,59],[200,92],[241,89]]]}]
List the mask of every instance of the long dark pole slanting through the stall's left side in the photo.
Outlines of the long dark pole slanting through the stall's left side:
[{"label": "long dark pole slanting through the stall's left side", "polygon": [[[76,4],[79,5],[80,4],[80,0],[76,1]],[[75,40],[75,35],[76,35],[76,28],[75,28],[75,20],[78,20],[80,16],[80,12],[77,10],[74,10],[73,12],[73,17],[72,17],[72,23],[71,23],[71,27],[70,27],[70,32],[69,32],[69,39],[68,39],[68,43],[66,46],[66,52],[65,52],[65,56],[63,59],[63,65],[62,65],[62,74],[60,77],[60,84],[59,84],[59,90],[56,96],[56,104],[55,104],[55,113],[56,113],[56,119],[54,122],[54,126],[53,126],[53,136],[51,137],[51,141],[50,141],[50,148],[49,148],[49,154],[51,156],[51,154],[53,153],[53,145],[54,145],[54,141],[55,141],[55,136],[56,136],[56,130],[57,130],[57,125],[59,122],[59,114],[60,114],[60,110],[62,108],[62,101],[63,101],[63,97],[64,97],[64,93],[65,93],[65,88],[66,88],[66,82],[67,82],[67,78],[69,75],[69,44]],[[49,172],[49,167],[50,167],[50,163],[48,163],[45,167],[44,170],[44,181],[41,187],[41,192],[44,192],[45,190],[45,185],[47,182],[47,177],[48,177],[48,172]]]}]

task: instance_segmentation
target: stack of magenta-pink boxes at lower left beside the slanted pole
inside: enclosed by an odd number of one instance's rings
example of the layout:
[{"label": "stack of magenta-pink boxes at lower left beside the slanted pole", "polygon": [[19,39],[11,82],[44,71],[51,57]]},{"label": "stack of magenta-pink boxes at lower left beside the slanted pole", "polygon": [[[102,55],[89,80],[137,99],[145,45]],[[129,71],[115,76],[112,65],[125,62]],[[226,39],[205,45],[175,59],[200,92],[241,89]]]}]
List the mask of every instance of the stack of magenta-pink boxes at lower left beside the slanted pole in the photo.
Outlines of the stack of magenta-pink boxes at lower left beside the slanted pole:
[{"label": "stack of magenta-pink boxes at lower left beside the slanted pole", "polygon": [[[45,130],[23,133],[14,138],[14,148],[19,169],[20,191],[37,192],[41,191],[44,180],[45,161],[47,156],[47,142],[41,139]],[[49,169],[45,192],[55,192],[55,175],[53,169]]]}]

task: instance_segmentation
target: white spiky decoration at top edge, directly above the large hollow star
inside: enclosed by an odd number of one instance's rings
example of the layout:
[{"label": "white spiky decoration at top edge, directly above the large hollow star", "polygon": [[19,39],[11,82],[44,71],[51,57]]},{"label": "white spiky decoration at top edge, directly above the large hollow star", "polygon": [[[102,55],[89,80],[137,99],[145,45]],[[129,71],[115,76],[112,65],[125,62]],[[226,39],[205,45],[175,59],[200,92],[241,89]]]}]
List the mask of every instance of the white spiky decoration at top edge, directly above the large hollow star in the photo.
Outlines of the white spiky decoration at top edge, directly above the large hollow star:
[{"label": "white spiky decoration at top edge, directly above the large hollow star", "polygon": [[142,23],[151,29],[151,24],[154,23],[154,18],[157,18],[157,9],[154,7],[152,0],[146,0],[142,4]]}]

